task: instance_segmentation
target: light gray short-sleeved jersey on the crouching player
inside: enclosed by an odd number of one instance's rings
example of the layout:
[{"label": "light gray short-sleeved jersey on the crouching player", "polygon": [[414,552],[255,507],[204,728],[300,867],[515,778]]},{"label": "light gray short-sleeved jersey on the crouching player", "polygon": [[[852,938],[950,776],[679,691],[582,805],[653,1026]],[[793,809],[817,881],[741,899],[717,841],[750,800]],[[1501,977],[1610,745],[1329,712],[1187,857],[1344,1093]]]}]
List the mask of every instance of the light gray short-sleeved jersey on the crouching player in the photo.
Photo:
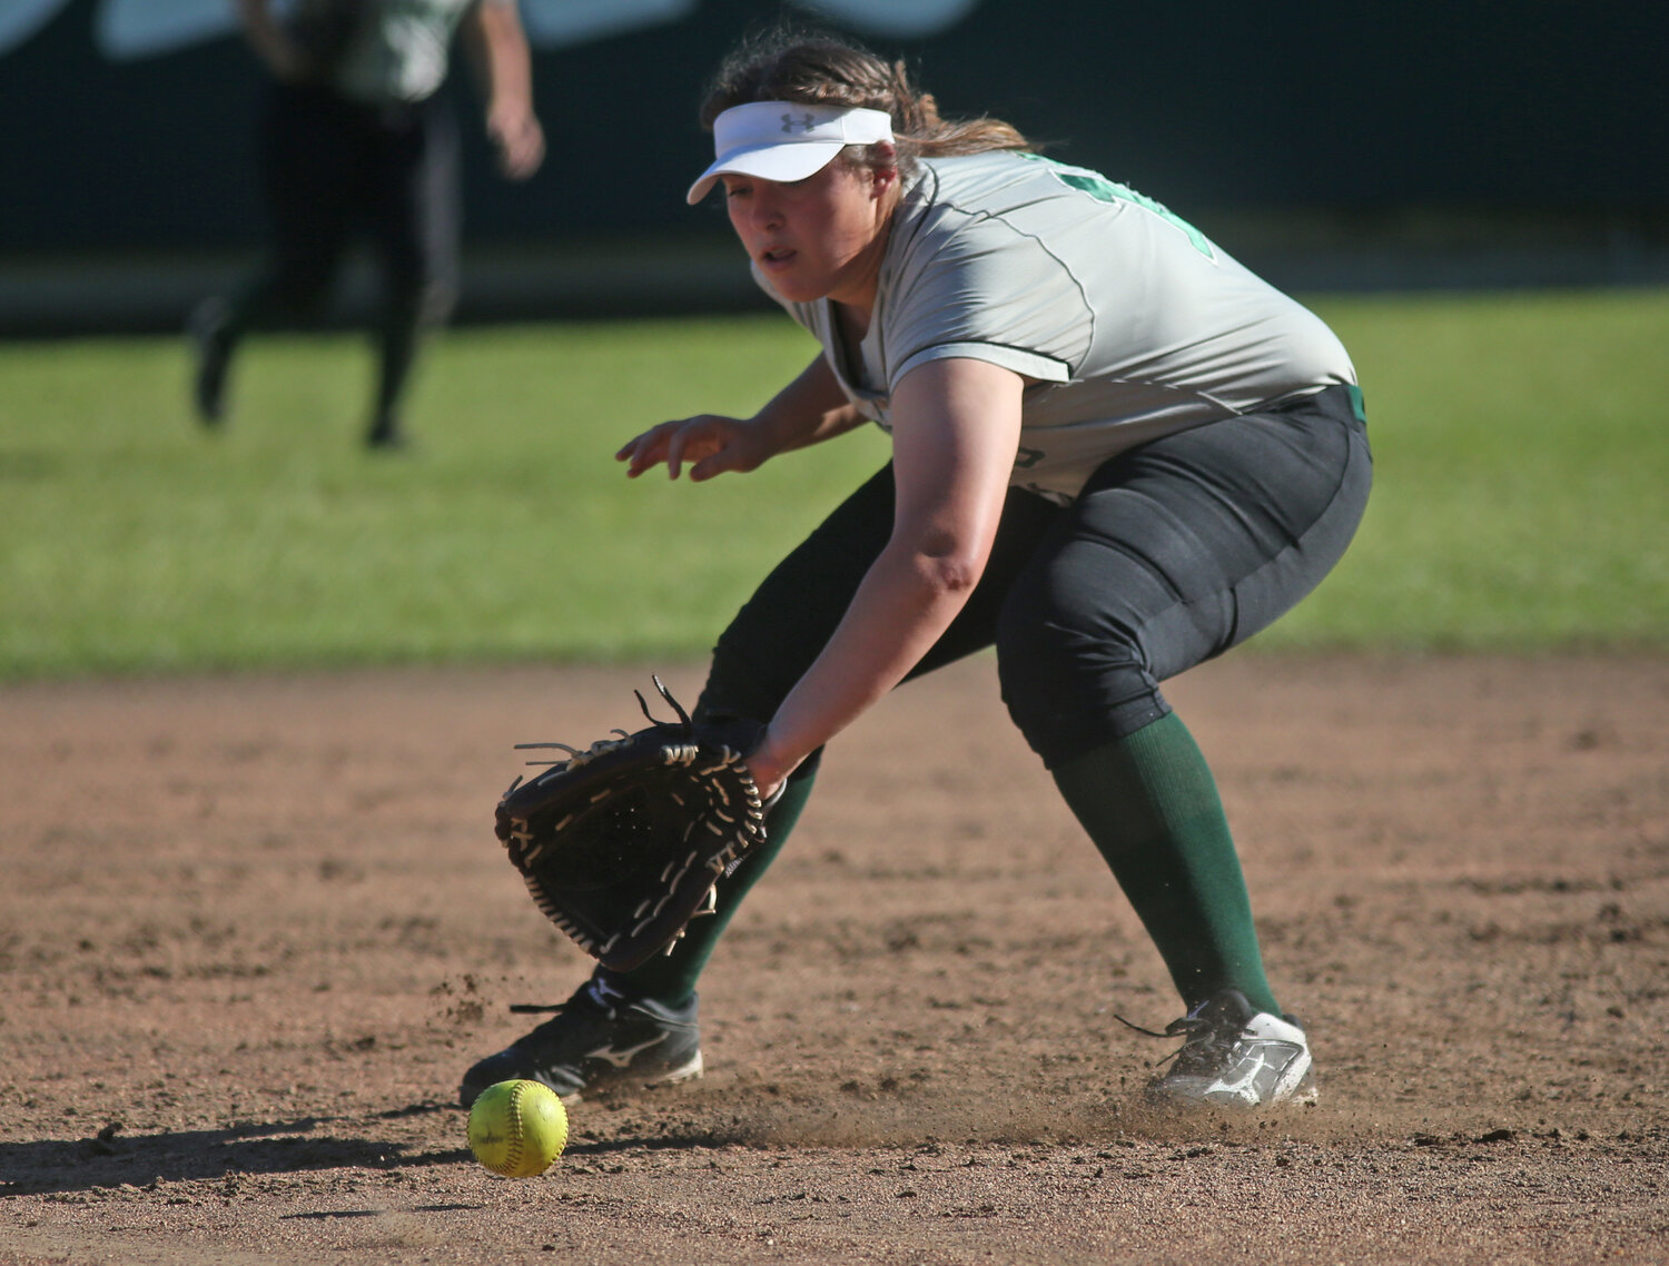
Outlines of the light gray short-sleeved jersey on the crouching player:
[{"label": "light gray short-sleeved jersey on the crouching player", "polygon": [[1319,317],[1197,229],[1036,155],[921,163],[855,354],[828,300],[783,305],[823,344],[846,395],[888,430],[893,389],[928,360],[970,357],[1025,375],[1010,482],[1055,500],[1075,497],[1123,449],[1355,382]]}]

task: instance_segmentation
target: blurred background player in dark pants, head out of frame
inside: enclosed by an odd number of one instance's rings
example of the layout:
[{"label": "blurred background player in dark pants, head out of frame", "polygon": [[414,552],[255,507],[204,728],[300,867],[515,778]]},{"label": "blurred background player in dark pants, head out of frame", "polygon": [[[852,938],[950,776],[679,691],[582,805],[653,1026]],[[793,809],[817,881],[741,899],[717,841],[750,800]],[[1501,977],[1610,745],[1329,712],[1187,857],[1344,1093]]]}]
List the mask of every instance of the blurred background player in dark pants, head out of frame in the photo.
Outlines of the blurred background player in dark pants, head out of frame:
[{"label": "blurred background player in dark pants, head out of frame", "polygon": [[419,340],[457,297],[459,135],[439,93],[454,37],[479,80],[499,170],[524,180],[544,158],[516,2],[239,0],[239,17],[272,75],[259,132],[270,250],[235,297],[192,314],[197,414],[209,427],[224,420],[227,370],[247,330],[319,315],[361,232],[382,282],[366,440],[397,447]]}]

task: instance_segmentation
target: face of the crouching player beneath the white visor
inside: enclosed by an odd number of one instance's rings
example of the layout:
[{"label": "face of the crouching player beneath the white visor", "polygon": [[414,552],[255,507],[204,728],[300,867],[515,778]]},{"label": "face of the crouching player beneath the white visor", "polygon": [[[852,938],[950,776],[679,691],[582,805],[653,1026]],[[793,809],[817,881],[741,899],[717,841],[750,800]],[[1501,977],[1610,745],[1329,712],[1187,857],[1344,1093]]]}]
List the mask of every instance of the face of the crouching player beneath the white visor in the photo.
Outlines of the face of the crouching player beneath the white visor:
[{"label": "face of the crouching player beneath the white visor", "polygon": [[736,237],[783,299],[868,310],[895,183],[895,172],[836,160],[793,183],[726,175],[724,203]]}]

